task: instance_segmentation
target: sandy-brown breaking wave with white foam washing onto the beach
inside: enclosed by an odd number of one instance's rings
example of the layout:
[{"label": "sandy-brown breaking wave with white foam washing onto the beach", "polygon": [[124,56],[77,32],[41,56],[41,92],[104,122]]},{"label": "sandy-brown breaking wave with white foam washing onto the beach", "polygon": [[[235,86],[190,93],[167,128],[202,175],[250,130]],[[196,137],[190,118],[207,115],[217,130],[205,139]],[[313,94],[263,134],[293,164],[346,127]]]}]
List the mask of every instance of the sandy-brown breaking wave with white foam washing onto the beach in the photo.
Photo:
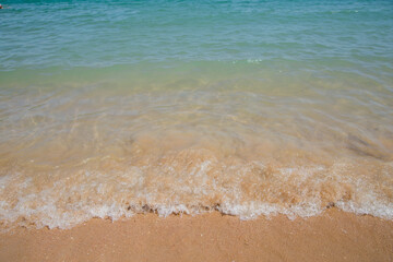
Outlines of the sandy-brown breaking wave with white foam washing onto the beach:
[{"label": "sandy-brown breaking wave with white foam washing onto the beach", "polygon": [[[0,179],[0,222],[3,228],[70,228],[93,217],[116,221],[147,212],[168,216],[212,211],[241,219],[277,214],[294,219],[331,206],[393,219],[386,181],[381,187],[381,181],[356,174],[376,169],[366,166],[370,163],[288,166],[229,158],[183,150],[142,157],[134,165],[106,158],[99,169],[85,164],[50,175],[8,174]],[[378,170],[381,177],[391,174],[392,166]]]}]

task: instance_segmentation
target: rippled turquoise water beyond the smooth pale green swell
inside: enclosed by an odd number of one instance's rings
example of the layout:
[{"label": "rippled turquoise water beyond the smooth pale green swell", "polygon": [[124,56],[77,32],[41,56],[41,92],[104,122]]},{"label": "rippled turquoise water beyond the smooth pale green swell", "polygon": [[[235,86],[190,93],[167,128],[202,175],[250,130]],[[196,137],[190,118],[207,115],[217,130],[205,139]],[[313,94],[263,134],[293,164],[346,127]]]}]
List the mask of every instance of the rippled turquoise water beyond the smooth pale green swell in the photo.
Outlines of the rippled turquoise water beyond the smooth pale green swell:
[{"label": "rippled turquoise water beyond the smooth pale green swell", "polygon": [[289,62],[305,70],[356,64],[357,70],[382,74],[391,69],[393,56],[391,1],[3,4],[1,71],[251,61],[284,68]]}]

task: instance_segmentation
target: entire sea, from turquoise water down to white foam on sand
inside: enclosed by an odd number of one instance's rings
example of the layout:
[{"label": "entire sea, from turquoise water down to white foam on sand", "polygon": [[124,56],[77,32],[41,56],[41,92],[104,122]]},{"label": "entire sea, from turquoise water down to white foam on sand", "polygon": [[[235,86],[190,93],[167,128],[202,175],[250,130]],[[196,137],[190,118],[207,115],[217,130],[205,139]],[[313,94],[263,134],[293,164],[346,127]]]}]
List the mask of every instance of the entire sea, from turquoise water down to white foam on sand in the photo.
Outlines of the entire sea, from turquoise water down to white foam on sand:
[{"label": "entire sea, from turquoise water down to white foam on sand", "polygon": [[3,5],[5,228],[333,205],[393,218],[390,1]]}]

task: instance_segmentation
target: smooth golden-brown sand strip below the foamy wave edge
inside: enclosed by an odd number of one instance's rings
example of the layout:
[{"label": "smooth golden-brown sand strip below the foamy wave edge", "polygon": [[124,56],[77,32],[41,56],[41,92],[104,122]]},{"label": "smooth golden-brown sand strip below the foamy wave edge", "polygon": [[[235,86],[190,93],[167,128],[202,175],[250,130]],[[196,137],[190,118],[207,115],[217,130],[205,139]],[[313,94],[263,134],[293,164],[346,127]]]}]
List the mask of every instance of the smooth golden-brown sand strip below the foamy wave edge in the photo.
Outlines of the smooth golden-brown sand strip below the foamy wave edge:
[{"label": "smooth golden-brown sand strip below the foamy wave edge", "polygon": [[0,261],[393,261],[393,222],[335,207],[289,221],[136,215],[0,234]]}]

